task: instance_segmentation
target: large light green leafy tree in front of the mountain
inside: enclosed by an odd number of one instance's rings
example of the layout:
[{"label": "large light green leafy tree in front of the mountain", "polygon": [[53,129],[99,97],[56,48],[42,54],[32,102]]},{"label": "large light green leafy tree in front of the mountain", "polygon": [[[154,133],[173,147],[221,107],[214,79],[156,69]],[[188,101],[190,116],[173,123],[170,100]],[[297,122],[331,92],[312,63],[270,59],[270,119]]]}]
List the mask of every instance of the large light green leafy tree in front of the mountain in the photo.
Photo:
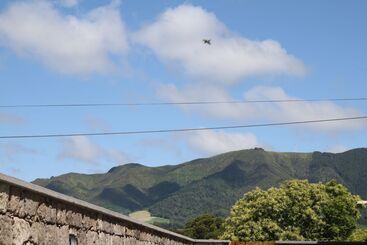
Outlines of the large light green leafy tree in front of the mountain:
[{"label": "large light green leafy tree in front of the mountain", "polygon": [[286,181],[256,188],[232,207],[223,239],[240,241],[347,240],[360,217],[359,196],[336,181]]}]

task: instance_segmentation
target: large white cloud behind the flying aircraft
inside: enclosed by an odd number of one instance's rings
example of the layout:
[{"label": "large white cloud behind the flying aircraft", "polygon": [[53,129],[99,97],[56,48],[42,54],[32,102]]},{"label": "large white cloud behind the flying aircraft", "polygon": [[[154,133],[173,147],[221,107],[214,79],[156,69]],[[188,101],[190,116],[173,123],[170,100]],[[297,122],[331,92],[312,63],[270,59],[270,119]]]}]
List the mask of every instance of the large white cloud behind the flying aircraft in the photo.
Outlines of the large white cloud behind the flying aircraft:
[{"label": "large white cloud behind the flying aircraft", "polygon": [[[212,40],[204,45],[203,38]],[[201,80],[233,84],[257,75],[305,73],[303,63],[274,40],[249,40],[231,33],[213,13],[180,5],[134,35],[164,62]]]}]

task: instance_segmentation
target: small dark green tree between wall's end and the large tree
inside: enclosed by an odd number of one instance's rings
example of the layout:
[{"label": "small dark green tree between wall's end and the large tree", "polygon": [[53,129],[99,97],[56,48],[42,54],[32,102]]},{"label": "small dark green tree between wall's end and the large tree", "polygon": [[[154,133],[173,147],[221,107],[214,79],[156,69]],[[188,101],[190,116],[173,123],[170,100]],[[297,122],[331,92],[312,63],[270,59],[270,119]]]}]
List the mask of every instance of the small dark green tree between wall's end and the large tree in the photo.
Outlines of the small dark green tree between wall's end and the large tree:
[{"label": "small dark green tree between wall's end and the large tree", "polygon": [[220,217],[203,214],[187,222],[183,233],[195,239],[217,239],[223,233],[223,222]]}]

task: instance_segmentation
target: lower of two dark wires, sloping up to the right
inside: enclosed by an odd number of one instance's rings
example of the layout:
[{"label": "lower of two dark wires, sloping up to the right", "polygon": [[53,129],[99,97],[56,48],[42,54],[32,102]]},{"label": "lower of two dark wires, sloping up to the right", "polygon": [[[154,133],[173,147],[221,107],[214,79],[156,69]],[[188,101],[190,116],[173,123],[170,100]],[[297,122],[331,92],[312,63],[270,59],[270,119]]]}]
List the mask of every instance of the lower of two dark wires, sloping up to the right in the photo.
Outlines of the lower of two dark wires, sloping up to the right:
[{"label": "lower of two dark wires, sloping up to the right", "polygon": [[367,116],[331,118],[331,119],[317,119],[317,120],[308,120],[308,121],[293,121],[293,122],[276,122],[276,123],[263,123],[263,124],[234,125],[234,126],[202,127],[202,128],[179,128],[179,129],[158,129],[158,130],[141,130],[141,131],[96,132],[96,133],[5,135],[5,136],[0,136],[0,139],[22,139],[22,138],[25,139],[25,138],[55,138],[55,137],[69,137],[69,136],[102,136],[102,135],[106,136],[106,135],[153,134],[153,133],[188,132],[188,131],[203,131],[203,130],[217,130],[217,129],[270,127],[270,126],[323,123],[323,122],[336,122],[336,121],[361,120],[361,119],[367,119]]}]

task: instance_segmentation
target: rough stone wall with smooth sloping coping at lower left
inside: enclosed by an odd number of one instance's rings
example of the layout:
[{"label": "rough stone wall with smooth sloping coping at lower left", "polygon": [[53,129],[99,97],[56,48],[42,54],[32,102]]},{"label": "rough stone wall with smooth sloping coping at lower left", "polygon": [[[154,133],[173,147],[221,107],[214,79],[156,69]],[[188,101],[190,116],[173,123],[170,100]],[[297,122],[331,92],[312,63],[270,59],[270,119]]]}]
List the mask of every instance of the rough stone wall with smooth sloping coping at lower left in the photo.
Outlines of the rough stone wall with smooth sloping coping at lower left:
[{"label": "rough stone wall with smooth sloping coping at lower left", "polygon": [[195,240],[0,174],[0,244],[228,244]]}]

